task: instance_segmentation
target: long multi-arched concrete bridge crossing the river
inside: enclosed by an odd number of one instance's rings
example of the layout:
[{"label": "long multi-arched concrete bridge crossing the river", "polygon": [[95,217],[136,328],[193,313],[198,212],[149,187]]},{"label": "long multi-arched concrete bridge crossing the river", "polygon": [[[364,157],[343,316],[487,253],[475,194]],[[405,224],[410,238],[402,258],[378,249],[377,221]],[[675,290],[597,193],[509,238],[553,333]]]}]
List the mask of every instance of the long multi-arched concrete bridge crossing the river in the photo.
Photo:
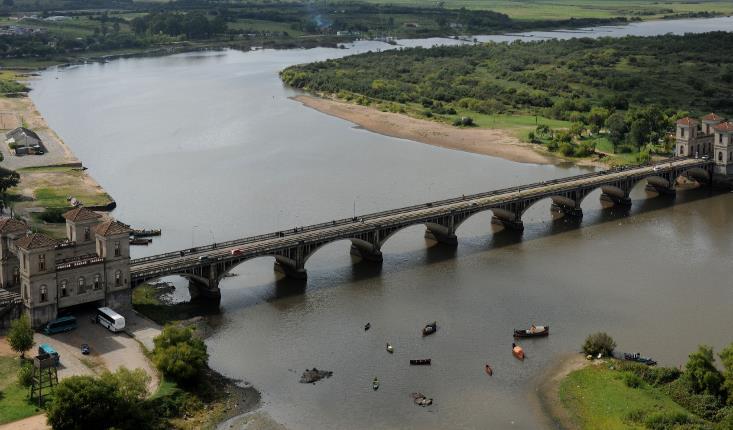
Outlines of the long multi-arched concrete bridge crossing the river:
[{"label": "long multi-arched concrete bridge crossing the river", "polygon": [[253,258],[271,256],[276,270],[305,279],[308,259],[322,246],[338,240],[350,240],[352,254],[381,262],[382,245],[393,234],[416,224],[425,225],[426,237],[456,245],[456,229],[479,212],[490,210],[492,222],[523,229],[522,215],[540,200],[552,199],[554,209],[582,217],[581,203],[596,189],[601,189],[602,199],[629,206],[629,192],[639,181],[646,181],[647,188],[660,194],[674,194],[681,176],[711,183],[713,162],[674,158],[650,166],[544,181],[139,258],[130,261],[132,286],[180,275],[188,278],[200,295],[218,297],[219,281],[224,275]]}]

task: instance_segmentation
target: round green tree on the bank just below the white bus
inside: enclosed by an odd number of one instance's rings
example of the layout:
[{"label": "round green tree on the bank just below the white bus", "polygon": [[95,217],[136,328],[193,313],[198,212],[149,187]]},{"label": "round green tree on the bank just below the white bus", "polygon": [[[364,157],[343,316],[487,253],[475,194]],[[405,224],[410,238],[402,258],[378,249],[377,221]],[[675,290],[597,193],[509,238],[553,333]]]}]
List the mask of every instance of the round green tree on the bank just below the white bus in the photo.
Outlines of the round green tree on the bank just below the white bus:
[{"label": "round green tree on the bank just below the white bus", "polygon": [[181,383],[190,382],[206,366],[206,344],[188,327],[167,325],[153,340],[153,362],[166,377]]}]

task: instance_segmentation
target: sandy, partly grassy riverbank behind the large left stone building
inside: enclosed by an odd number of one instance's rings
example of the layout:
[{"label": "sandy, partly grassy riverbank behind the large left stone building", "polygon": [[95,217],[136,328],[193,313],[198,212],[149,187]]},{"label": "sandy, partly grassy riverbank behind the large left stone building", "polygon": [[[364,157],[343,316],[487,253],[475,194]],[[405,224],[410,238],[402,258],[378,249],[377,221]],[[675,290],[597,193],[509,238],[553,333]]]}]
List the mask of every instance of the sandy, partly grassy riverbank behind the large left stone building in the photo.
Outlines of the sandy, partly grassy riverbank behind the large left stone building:
[{"label": "sandy, partly grassy riverbank behind the large left stone building", "polygon": [[[114,199],[85,171],[71,148],[48,126],[30,97],[0,97],[0,114],[3,134],[0,166],[15,170],[20,176],[19,184],[8,190],[8,206],[13,215],[24,218],[39,231],[62,237],[63,226],[43,221],[42,212],[49,208],[71,209],[70,197],[95,210],[114,209]],[[5,143],[5,134],[17,127],[26,127],[38,134],[43,154],[15,155]]]}]

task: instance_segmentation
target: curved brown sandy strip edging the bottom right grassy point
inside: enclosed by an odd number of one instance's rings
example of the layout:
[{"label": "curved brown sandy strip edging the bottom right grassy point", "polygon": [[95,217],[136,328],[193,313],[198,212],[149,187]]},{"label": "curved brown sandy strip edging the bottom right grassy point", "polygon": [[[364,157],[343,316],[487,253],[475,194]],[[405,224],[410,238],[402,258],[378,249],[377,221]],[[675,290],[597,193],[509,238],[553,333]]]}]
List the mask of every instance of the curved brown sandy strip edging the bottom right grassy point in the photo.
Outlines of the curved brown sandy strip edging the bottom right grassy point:
[{"label": "curved brown sandy strip edging the bottom right grassy point", "polygon": [[570,373],[591,365],[582,354],[573,353],[561,357],[537,384],[537,399],[548,425],[553,429],[575,430],[577,426],[560,402],[560,383]]}]

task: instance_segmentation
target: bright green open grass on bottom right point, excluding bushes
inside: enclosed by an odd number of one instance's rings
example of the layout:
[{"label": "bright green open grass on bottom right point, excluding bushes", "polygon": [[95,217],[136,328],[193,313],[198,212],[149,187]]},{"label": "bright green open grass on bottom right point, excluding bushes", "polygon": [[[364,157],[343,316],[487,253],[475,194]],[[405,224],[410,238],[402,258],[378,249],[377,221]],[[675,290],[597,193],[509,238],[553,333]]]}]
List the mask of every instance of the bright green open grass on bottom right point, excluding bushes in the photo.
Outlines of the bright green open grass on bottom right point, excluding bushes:
[{"label": "bright green open grass on bottom right point, excluding bushes", "polygon": [[626,372],[606,365],[570,373],[560,384],[560,401],[581,429],[635,430],[646,428],[634,416],[684,414],[697,420],[660,390],[642,383],[624,383]]}]

